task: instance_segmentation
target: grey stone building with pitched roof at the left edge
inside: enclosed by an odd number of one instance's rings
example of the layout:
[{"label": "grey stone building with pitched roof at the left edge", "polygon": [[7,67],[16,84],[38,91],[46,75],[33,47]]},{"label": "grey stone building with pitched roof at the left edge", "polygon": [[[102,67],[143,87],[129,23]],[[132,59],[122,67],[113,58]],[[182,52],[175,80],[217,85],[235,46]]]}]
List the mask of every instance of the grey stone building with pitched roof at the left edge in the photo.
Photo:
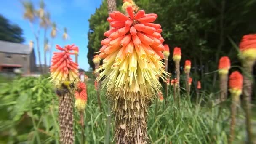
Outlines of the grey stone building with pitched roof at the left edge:
[{"label": "grey stone building with pitched roof at the left edge", "polygon": [[0,40],[0,72],[31,74],[36,70],[34,48]]}]

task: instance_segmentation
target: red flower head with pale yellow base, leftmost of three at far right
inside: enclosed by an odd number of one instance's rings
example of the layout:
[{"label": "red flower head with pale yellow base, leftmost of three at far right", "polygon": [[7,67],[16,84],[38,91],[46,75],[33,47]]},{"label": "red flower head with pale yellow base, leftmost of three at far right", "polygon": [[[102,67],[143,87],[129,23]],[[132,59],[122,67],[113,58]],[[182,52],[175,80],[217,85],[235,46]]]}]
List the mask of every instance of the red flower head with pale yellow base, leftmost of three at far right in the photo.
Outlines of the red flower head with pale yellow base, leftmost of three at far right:
[{"label": "red flower head with pale yellow base, leftmost of three at far right", "polygon": [[219,59],[219,74],[227,75],[229,73],[230,60],[229,57],[223,56]]}]

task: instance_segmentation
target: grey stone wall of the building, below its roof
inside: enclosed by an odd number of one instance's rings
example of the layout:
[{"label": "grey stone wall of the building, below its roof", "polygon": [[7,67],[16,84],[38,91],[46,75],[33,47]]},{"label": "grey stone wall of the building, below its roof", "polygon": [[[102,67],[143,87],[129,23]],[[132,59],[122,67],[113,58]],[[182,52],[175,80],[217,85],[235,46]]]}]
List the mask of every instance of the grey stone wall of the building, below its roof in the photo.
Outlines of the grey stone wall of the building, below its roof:
[{"label": "grey stone wall of the building, below its roof", "polygon": [[17,53],[2,53],[0,52],[0,64],[21,64],[22,71],[25,74],[31,72],[30,55],[17,54]]}]

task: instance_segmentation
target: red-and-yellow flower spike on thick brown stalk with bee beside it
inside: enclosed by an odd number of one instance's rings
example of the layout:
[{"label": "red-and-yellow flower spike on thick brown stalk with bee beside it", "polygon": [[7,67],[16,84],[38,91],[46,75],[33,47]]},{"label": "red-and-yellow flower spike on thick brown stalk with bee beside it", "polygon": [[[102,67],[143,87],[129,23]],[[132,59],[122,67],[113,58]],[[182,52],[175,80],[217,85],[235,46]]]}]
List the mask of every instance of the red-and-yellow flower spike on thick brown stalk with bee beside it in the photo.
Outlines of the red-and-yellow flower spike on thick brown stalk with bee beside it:
[{"label": "red-and-yellow flower spike on thick brown stalk with bee beside it", "polygon": [[63,144],[74,143],[73,97],[74,83],[78,77],[78,64],[72,61],[70,55],[74,54],[71,51],[76,48],[74,45],[66,45],[64,48],[56,45],[56,49],[61,52],[53,53],[50,67],[51,82],[59,96],[60,142]]}]

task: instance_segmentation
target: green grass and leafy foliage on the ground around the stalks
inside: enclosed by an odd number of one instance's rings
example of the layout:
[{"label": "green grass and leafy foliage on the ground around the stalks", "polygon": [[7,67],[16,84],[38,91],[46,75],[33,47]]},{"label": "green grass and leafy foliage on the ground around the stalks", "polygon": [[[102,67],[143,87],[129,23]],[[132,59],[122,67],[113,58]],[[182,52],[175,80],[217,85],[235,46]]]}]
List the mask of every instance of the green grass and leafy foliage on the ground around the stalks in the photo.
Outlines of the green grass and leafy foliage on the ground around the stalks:
[{"label": "green grass and leafy foliage on the ground around the stalks", "polygon": [[[25,83],[27,82],[27,83]],[[88,144],[104,143],[107,123],[107,101],[101,91],[102,112],[99,112],[93,82],[87,83],[88,102],[85,109],[85,139]],[[43,86],[42,86],[43,85]],[[51,84],[45,78],[21,78],[0,85],[0,143],[56,143],[59,126],[58,101]],[[31,89],[32,88],[32,89]],[[42,90],[40,90],[42,89]],[[181,95],[180,107],[173,102],[173,95],[159,102],[155,115],[155,101],[149,107],[148,136],[153,144],[226,144],[229,136],[229,107],[218,117],[219,105],[209,106],[212,95],[202,93],[201,104],[196,105]],[[212,96],[212,97],[211,97]],[[40,98],[40,99],[39,99]],[[192,101],[192,102],[191,102]],[[243,110],[239,107],[235,141],[245,141]],[[79,114],[75,111],[75,141],[80,143]],[[114,117],[110,129],[112,141]]]}]

